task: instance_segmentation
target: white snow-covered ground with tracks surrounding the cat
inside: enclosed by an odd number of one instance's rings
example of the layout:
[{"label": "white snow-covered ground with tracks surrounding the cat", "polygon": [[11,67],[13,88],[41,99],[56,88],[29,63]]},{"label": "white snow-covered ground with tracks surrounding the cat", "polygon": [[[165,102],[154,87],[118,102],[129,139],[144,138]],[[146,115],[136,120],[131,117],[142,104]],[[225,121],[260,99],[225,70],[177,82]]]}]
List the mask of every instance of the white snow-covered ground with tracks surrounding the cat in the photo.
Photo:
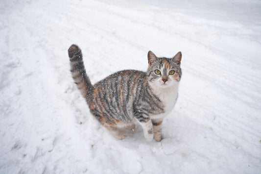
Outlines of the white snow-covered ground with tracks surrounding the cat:
[{"label": "white snow-covered ground with tracks surrounding the cat", "polygon": [[[0,174],[261,174],[260,0],[1,0],[0,38]],[[165,139],[95,121],[71,44],[93,83],[182,51]]]}]

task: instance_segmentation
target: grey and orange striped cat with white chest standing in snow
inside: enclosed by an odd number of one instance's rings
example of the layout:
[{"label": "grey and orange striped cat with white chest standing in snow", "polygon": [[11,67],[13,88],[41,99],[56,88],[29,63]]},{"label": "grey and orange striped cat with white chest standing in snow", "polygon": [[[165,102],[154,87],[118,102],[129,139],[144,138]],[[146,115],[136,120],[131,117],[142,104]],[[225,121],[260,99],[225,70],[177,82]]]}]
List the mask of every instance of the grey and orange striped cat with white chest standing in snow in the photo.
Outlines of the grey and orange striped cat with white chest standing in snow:
[{"label": "grey and orange striped cat with white chest standing in snow", "polygon": [[147,72],[124,70],[92,85],[77,45],[68,50],[71,75],[92,115],[118,139],[126,134],[122,128],[134,129],[138,121],[144,137],[162,140],[162,122],[174,108],[181,79],[181,52],[172,58],[157,57],[148,51]]}]

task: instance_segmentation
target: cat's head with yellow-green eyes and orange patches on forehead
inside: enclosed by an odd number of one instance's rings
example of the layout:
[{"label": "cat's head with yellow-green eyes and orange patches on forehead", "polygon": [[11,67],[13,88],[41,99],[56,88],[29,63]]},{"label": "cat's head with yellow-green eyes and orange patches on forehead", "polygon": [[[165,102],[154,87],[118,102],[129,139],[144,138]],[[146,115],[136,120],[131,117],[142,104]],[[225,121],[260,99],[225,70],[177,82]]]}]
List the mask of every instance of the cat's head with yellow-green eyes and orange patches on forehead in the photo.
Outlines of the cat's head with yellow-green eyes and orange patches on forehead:
[{"label": "cat's head with yellow-green eyes and orange patches on forehead", "polygon": [[171,87],[179,83],[181,78],[182,54],[178,52],[172,58],[157,57],[152,51],[148,51],[148,81],[151,85],[162,88]]}]

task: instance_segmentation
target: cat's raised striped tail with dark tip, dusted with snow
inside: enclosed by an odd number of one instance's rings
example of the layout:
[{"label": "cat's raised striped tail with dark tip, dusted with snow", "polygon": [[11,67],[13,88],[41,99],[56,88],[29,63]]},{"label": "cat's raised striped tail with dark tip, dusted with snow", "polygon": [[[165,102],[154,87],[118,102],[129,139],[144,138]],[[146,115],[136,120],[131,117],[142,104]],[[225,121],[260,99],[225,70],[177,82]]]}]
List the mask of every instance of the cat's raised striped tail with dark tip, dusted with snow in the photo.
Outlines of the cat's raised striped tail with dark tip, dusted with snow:
[{"label": "cat's raised striped tail with dark tip, dusted with snow", "polygon": [[74,79],[74,83],[77,85],[82,96],[87,100],[89,104],[90,94],[93,91],[93,85],[86,74],[83,60],[82,51],[77,45],[71,45],[68,50],[71,64],[71,76]]}]

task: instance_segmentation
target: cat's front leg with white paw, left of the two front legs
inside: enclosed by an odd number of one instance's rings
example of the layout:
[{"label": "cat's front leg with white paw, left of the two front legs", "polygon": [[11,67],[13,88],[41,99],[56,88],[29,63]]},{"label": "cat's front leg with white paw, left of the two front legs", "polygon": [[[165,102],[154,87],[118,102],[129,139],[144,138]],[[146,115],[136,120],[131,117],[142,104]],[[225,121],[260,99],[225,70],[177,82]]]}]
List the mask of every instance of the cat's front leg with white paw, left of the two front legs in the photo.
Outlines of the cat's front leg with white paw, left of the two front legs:
[{"label": "cat's front leg with white paw, left of the two front legs", "polygon": [[145,139],[151,141],[153,139],[153,126],[150,118],[144,114],[135,114],[135,118],[142,125]]}]

